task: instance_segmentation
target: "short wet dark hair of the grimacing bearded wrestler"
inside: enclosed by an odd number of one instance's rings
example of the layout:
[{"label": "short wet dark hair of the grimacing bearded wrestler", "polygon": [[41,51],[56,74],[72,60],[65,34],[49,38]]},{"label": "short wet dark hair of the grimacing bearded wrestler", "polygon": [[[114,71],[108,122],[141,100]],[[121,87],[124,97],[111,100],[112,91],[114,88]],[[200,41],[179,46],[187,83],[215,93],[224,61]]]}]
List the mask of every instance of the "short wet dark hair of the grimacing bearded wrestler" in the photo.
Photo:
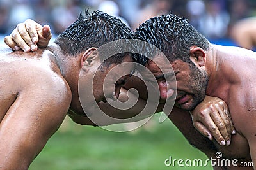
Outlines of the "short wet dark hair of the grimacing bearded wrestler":
[{"label": "short wet dark hair of the grimacing bearded wrestler", "polygon": [[134,35],[136,39],[159,48],[170,62],[182,60],[192,64],[190,47],[195,45],[207,50],[210,46],[209,41],[188,20],[173,14],[150,18],[136,29]]}]

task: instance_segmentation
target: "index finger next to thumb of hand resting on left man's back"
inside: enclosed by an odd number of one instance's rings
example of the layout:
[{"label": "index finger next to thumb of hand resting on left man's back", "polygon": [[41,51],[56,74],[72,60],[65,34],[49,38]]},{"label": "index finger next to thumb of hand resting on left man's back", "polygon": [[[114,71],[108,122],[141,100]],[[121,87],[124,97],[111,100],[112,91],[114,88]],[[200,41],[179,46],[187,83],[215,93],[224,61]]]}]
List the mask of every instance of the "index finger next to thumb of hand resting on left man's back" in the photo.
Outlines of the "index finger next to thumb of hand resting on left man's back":
[{"label": "index finger next to thumb of hand resting on left man's back", "polygon": [[40,24],[38,24],[37,22],[33,21],[33,20],[26,20],[25,22],[26,25],[26,30],[28,31],[28,34],[31,38],[31,40],[33,41],[33,43],[37,43],[38,42],[38,30],[42,29],[42,26]]}]

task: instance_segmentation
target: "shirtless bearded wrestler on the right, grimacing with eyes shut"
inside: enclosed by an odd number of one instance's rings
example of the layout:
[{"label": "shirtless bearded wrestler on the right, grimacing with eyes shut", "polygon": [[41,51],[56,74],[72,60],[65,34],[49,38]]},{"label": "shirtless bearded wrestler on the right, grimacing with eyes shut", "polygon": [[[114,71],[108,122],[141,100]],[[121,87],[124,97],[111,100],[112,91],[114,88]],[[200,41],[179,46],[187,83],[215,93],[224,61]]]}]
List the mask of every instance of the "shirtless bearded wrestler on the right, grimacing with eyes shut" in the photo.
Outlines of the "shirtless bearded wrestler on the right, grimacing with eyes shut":
[{"label": "shirtless bearded wrestler on the right, grimacing with eyes shut", "polygon": [[[135,32],[136,38],[157,46],[170,61],[177,80],[175,103],[183,110],[193,110],[206,95],[220,97],[229,106],[237,134],[232,136],[230,146],[220,146],[214,141],[198,139],[191,131],[171,120],[188,141],[202,150],[208,157],[221,152],[221,159],[236,159],[236,165],[214,167],[214,169],[241,169],[243,162],[253,162],[256,168],[256,53],[244,48],[213,45],[196,31],[184,18],[176,15],[162,15],[141,24]],[[163,55],[153,59],[161,62]],[[168,66],[162,63],[163,66]],[[146,66],[155,76],[161,77],[161,70],[148,60]],[[170,67],[170,66],[169,66]],[[164,79],[159,79],[159,85]],[[159,87],[166,99],[166,90]],[[180,117],[181,118],[181,117]],[[190,119],[184,115],[184,122]],[[220,165],[221,166],[221,165]],[[252,167],[244,167],[252,169]]]}]

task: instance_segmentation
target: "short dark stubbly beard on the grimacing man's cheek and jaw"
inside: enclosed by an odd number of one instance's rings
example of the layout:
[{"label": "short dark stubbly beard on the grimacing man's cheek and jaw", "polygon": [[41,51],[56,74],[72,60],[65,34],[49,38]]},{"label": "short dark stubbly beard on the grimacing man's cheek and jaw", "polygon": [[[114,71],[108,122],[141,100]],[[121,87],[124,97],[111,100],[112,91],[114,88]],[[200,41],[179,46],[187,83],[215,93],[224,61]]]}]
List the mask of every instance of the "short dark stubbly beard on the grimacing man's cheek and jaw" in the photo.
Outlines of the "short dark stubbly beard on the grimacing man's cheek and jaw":
[{"label": "short dark stubbly beard on the grimacing man's cheek and jaw", "polygon": [[200,102],[204,100],[208,85],[208,75],[205,70],[200,70],[195,65],[189,64],[191,76],[189,76],[188,87],[191,89],[193,100],[184,108],[184,110],[193,110]]}]

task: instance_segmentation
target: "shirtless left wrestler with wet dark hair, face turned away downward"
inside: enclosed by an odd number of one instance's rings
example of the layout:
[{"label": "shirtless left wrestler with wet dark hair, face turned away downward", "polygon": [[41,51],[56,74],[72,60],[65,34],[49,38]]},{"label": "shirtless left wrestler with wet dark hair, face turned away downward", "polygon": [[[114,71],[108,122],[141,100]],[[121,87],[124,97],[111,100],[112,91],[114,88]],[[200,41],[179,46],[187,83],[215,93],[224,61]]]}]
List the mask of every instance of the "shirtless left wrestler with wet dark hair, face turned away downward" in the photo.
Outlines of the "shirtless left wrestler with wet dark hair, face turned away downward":
[{"label": "shirtless left wrestler with wet dark hair, face turned away downward", "polygon": [[[86,89],[92,78],[97,81],[93,86],[94,98],[86,99],[88,103],[95,101],[97,106],[106,98],[116,98],[112,87],[116,96],[119,95],[125,76],[120,78],[122,81],[111,76],[114,83],[107,85],[111,88],[106,90],[105,96],[101,80],[111,68],[131,62],[132,57],[121,53],[104,60],[104,53],[102,55],[98,48],[127,38],[132,38],[132,33],[117,18],[100,11],[86,11],[43,50],[35,53],[1,51],[1,169],[28,169],[60,127],[68,109],[85,116],[78,95],[79,82],[81,88]],[[131,73],[135,68],[124,69]],[[77,116],[70,115],[76,121]]]}]

